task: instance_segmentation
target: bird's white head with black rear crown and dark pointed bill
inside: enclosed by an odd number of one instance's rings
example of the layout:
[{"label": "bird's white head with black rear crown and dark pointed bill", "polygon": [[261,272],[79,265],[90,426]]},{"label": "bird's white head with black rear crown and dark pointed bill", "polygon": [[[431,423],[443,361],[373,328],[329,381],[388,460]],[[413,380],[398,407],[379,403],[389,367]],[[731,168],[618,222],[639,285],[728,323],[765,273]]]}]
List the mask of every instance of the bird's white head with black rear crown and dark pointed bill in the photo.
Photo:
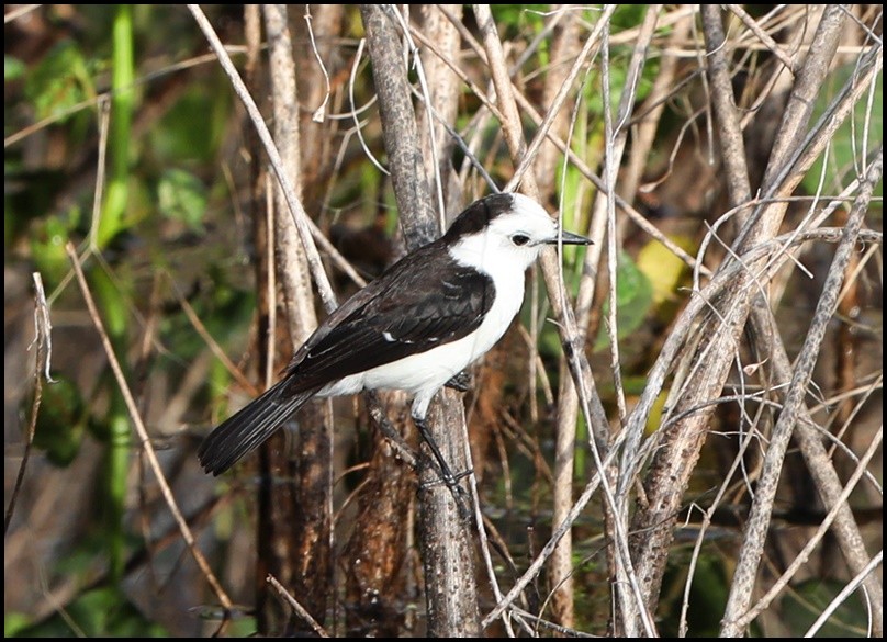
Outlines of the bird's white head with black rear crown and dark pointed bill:
[{"label": "bird's white head with black rear crown and dark pointed bill", "polygon": [[584,236],[561,232],[544,209],[524,194],[492,194],[469,205],[450,225],[444,241],[460,263],[491,273],[524,271],[547,245],[588,245]]}]

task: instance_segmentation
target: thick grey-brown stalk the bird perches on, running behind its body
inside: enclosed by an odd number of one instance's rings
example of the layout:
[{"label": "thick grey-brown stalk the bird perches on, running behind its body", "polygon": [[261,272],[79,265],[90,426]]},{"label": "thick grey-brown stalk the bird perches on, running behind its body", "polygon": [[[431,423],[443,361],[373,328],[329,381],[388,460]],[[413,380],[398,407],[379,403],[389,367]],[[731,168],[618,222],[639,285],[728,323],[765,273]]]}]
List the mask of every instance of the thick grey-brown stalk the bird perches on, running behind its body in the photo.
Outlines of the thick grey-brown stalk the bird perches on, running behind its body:
[{"label": "thick grey-brown stalk the bird perches on, running behind its body", "polygon": [[[423,171],[425,161],[403,65],[401,38],[395,26],[396,16],[391,11],[391,8],[373,4],[360,5],[401,227],[407,248],[415,249],[438,236],[438,225]],[[450,393],[442,403],[434,403],[428,414],[430,432],[454,471],[463,471],[468,465],[464,443],[461,443],[461,437],[465,433],[463,415],[461,399]],[[420,464],[419,480],[424,483],[437,482],[435,469]],[[419,545],[425,567],[429,635],[453,638],[480,634],[470,534],[445,485],[433,484],[420,493]]]}]

